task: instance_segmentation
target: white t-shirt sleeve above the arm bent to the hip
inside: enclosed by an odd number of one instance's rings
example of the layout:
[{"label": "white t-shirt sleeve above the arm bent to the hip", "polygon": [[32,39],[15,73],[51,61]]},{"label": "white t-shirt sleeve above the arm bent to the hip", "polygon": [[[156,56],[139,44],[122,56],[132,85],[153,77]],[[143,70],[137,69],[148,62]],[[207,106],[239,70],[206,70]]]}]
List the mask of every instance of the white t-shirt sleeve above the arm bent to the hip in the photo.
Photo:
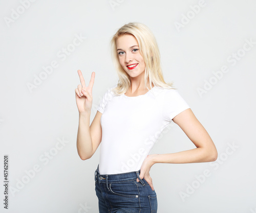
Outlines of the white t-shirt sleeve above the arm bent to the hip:
[{"label": "white t-shirt sleeve above the arm bent to the hip", "polygon": [[163,117],[164,120],[169,122],[172,122],[176,115],[190,108],[177,89],[168,89],[164,95],[163,102]]}]

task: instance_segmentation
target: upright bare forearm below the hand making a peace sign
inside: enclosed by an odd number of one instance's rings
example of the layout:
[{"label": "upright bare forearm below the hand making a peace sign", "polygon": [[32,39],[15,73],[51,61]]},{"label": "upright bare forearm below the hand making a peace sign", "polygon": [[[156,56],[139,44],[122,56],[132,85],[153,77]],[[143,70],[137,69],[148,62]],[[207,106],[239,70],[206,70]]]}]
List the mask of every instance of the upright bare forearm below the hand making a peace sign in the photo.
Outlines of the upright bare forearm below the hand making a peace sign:
[{"label": "upright bare forearm below the hand making a peace sign", "polygon": [[93,146],[90,133],[91,112],[79,113],[76,147],[79,157],[86,160],[92,156]]}]

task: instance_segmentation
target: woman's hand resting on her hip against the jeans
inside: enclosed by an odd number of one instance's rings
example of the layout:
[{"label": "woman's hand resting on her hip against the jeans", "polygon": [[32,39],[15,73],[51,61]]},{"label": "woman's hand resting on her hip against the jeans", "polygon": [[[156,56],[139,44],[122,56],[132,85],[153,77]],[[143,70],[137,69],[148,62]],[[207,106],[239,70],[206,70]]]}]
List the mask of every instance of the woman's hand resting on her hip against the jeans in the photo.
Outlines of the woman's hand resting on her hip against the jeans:
[{"label": "woman's hand resting on her hip against the jeans", "polygon": [[[152,190],[154,191],[154,186],[153,186],[153,182],[152,182],[152,178],[150,177],[150,169],[152,167],[152,165],[154,165],[154,162],[153,162],[153,156],[156,155],[156,154],[153,154],[153,155],[147,155],[146,159],[143,161],[142,165],[141,165],[141,168],[140,168],[140,179],[145,179],[146,182],[148,184],[150,184]],[[139,182],[139,179],[137,178],[137,182]]]}]

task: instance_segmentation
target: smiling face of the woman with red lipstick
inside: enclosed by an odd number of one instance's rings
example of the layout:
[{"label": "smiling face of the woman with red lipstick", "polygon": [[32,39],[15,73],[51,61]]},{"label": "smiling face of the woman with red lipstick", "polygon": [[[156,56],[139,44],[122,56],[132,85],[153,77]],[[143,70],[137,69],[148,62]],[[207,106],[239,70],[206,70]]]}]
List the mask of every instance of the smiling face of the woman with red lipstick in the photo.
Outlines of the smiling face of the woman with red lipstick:
[{"label": "smiling face of the woman with red lipstick", "polygon": [[116,40],[119,63],[131,77],[144,78],[145,62],[140,54],[137,39],[130,34],[125,34]]}]

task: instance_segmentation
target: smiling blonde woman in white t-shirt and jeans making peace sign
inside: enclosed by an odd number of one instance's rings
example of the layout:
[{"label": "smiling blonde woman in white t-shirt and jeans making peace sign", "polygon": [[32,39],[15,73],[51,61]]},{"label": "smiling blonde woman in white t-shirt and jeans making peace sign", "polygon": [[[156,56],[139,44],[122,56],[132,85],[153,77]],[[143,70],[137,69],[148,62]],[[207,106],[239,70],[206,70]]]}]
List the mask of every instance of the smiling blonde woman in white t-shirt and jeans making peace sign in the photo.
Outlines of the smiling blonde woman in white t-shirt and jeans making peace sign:
[{"label": "smiling blonde woman in white t-shirt and jeans making peace sign", "polygon": [[[78,70],[78,155],[82,160],[91,158],[101,143],[95,171],[100,213],[157,212],[151,167],[155,163],[215,161],[217,150],[178,91],[164,81],[152,32],[141,23],[131,22],[116,32],[111,44],[119,81],[105,92],[91,126],[95,73],[86,86]],[[149,155],[160,133],[172,121],[197,148]]]}]

